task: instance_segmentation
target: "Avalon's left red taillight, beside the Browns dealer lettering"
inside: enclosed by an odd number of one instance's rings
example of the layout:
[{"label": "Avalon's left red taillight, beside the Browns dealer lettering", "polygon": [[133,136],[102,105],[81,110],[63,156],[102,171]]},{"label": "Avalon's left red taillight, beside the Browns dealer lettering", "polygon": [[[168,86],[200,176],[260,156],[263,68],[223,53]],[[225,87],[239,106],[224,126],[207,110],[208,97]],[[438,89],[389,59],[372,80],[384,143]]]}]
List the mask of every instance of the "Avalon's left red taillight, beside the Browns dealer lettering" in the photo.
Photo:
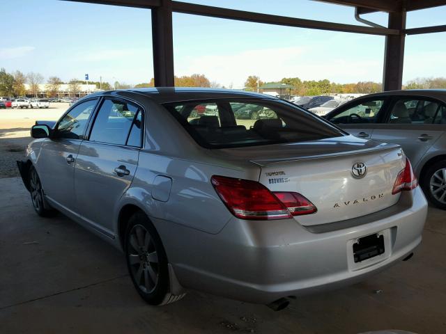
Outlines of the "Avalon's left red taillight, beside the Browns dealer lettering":
[{"label": "Avalon's left red taillight, beside the Browns dealer lettering", "polygon": [[211,182],[226,207],[238,218],[284,219],[316,212],[316,207],[298,193],[272,193],[259,182],[233,177],[214,175]]}]

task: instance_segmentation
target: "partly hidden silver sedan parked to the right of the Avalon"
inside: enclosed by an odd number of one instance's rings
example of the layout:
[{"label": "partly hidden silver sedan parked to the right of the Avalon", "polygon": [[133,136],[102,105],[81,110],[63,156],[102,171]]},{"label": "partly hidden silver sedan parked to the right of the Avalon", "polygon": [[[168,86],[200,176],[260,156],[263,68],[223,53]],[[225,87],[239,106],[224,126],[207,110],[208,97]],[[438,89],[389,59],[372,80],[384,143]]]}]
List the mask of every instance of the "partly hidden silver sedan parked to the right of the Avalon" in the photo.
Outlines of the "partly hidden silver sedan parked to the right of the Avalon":
[{"label": "partly hidden silver sedan parked to the right of the Avalon", "polygon": [[365,95],[325,119],[360,138],[401,145],[427,198],[446,209],[446,90]]}]

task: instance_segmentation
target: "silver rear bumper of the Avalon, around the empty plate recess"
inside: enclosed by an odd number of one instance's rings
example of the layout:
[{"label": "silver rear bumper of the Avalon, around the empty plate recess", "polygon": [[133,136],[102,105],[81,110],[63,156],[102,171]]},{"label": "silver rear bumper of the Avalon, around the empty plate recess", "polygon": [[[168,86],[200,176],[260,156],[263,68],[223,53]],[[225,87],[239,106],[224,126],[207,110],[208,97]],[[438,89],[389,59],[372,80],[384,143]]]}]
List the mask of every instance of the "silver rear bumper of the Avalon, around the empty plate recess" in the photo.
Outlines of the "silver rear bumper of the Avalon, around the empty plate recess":
[{"label": "silver rear bumper of the Avalon, around the empty plate recess", "polygon": [[[293,219],[233,218],[219,234],[180,228],[176,237],[169,237],[162,223],[155,225],[163,241],[167,239],[169,262],[183,287],[270,303],[355,283],[410,254],[422,240],[427,214],[420,187],[404,192],[385,211],[368,215],[362,225],[333,226],[324,232],[310,231]],[[378,232],[385,235],[385,253],[355,263],[353,243]]]}]

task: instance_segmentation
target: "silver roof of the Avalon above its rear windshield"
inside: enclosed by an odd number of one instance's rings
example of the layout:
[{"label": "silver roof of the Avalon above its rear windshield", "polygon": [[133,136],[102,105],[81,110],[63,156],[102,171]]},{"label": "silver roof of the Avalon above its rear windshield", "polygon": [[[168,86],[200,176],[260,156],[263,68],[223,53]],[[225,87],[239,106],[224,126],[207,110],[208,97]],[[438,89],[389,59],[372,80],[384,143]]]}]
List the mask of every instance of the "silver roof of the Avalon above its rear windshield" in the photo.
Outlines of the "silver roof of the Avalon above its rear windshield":
[{"label": "silver roof of the Avalon above its rear windshield", "polygon": [[94,95],[124,95],[125,93],[136,93],[145,95],[157,103],[180,102],[188,100],[209,100],[209,99],[267,99],[279,100],[271,95],[252,93],[245,90],[232,90],[224,88],[189,88],[189,87],[155,87],[155,88],[130,88],[123,90],[107,90]]}]

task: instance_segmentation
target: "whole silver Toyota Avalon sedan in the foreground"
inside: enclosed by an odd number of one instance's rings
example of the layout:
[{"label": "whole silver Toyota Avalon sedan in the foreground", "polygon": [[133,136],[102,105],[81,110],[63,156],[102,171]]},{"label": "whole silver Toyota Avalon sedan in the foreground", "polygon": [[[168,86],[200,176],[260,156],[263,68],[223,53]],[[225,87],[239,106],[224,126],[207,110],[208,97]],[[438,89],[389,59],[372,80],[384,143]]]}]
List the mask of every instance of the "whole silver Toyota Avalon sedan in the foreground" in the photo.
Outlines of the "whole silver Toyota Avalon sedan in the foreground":
[{"label": "whole silver Toyota Avalon sedan in the foreground", "polygon": [[109,91],[31,134],[17,164],[36,212],[123,250],[151,305],[197,289],[279,309],[405,260],[422,240],[426,199],[399,145],[268,95]]}]

